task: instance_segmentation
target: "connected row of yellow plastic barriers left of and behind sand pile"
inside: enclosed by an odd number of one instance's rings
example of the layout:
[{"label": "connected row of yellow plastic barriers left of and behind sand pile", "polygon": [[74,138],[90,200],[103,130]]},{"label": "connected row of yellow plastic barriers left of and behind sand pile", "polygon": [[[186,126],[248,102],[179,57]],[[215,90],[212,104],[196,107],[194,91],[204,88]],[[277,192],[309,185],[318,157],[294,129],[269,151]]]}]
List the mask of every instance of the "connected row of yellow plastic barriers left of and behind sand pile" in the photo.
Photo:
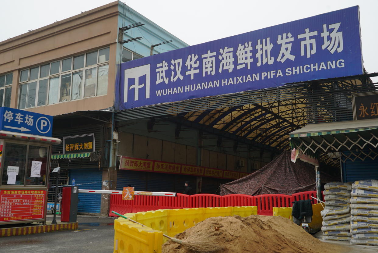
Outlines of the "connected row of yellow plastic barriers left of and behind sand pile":
[{"label": "connected row of yellow plastic barriers left of and behind sand pile", "polygon": [[[175,236],[208,217],[257,214],[257,206],[163,209],[124,214],[146,226],[119,217],[114,222],[113,253],[161,253],[163,233]],[[154,230],[155,229],[155,230]]]}]

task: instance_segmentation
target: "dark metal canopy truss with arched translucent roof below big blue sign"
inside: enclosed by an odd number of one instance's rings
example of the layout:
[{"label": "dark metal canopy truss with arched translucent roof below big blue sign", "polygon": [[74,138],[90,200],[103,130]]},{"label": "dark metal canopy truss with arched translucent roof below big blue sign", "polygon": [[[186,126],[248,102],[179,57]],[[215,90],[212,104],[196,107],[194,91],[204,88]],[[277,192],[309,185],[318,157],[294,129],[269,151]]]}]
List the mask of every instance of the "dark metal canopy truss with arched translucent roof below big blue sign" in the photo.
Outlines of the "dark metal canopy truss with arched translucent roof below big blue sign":
[{"label": "dark metal canopy truss with arched translucent roof below big blue sign", "polygon": [[[352,120],[352,94],[377,91],[369,77],[290,84],[117,111],[115,121],[165,118],[192,122],[250,141],[251,147],[289,148],[289,133],[309,123]],[[188,125],[188,124],[187,124]],[[332,142],[331,142],[332,143]],[[260,144],[260,145],[253,145]]]}]

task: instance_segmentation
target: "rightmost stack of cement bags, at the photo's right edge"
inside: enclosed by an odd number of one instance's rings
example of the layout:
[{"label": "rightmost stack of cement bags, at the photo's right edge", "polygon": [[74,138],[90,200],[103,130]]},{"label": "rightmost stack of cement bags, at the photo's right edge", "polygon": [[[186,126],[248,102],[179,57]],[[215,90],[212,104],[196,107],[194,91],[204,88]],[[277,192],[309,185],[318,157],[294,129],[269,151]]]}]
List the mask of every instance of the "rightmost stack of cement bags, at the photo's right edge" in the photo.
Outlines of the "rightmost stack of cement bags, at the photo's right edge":
[{"label": "rightmost stack of cement bags, at the photo's right edge", "polygon": [[352,184],[350,244],[378,245],[378,180]]}]

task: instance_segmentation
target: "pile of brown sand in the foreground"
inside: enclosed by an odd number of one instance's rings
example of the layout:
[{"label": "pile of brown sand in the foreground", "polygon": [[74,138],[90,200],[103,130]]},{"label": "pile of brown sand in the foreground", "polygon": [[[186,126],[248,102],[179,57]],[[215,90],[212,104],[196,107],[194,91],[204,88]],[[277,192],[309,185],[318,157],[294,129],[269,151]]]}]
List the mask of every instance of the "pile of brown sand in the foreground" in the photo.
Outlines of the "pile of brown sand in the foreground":
[{"label": "pile of brown sand in the foreground", "polygon": [[[175,237],[208,236],[222,250],[214,253],[341,253],[343,246],[321,242],[300,226],[280,216],[211,217]],[[180,244],[168,241],[162,253],[191,253]]]}]

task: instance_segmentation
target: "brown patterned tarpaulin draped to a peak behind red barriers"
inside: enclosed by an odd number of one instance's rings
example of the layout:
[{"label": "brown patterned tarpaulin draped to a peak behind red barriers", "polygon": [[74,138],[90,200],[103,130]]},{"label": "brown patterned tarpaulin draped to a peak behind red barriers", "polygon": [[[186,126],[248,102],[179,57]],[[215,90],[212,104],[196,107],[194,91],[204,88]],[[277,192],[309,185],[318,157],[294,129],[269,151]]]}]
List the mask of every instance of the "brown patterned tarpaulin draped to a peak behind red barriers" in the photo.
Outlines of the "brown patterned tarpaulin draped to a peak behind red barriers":
[{"label": "brown patterned tarpaulin draped to a peak behind red barriers", "polygon": [[[323,178],[322,178],[323,177]],[[327,180],[321,175],[322,181]],[[291,161],[291,152],[283,151],[261,169],[222,184],[220,195],[227,194],[287,194],[315,191],[315,166],[299,159]]]}]

